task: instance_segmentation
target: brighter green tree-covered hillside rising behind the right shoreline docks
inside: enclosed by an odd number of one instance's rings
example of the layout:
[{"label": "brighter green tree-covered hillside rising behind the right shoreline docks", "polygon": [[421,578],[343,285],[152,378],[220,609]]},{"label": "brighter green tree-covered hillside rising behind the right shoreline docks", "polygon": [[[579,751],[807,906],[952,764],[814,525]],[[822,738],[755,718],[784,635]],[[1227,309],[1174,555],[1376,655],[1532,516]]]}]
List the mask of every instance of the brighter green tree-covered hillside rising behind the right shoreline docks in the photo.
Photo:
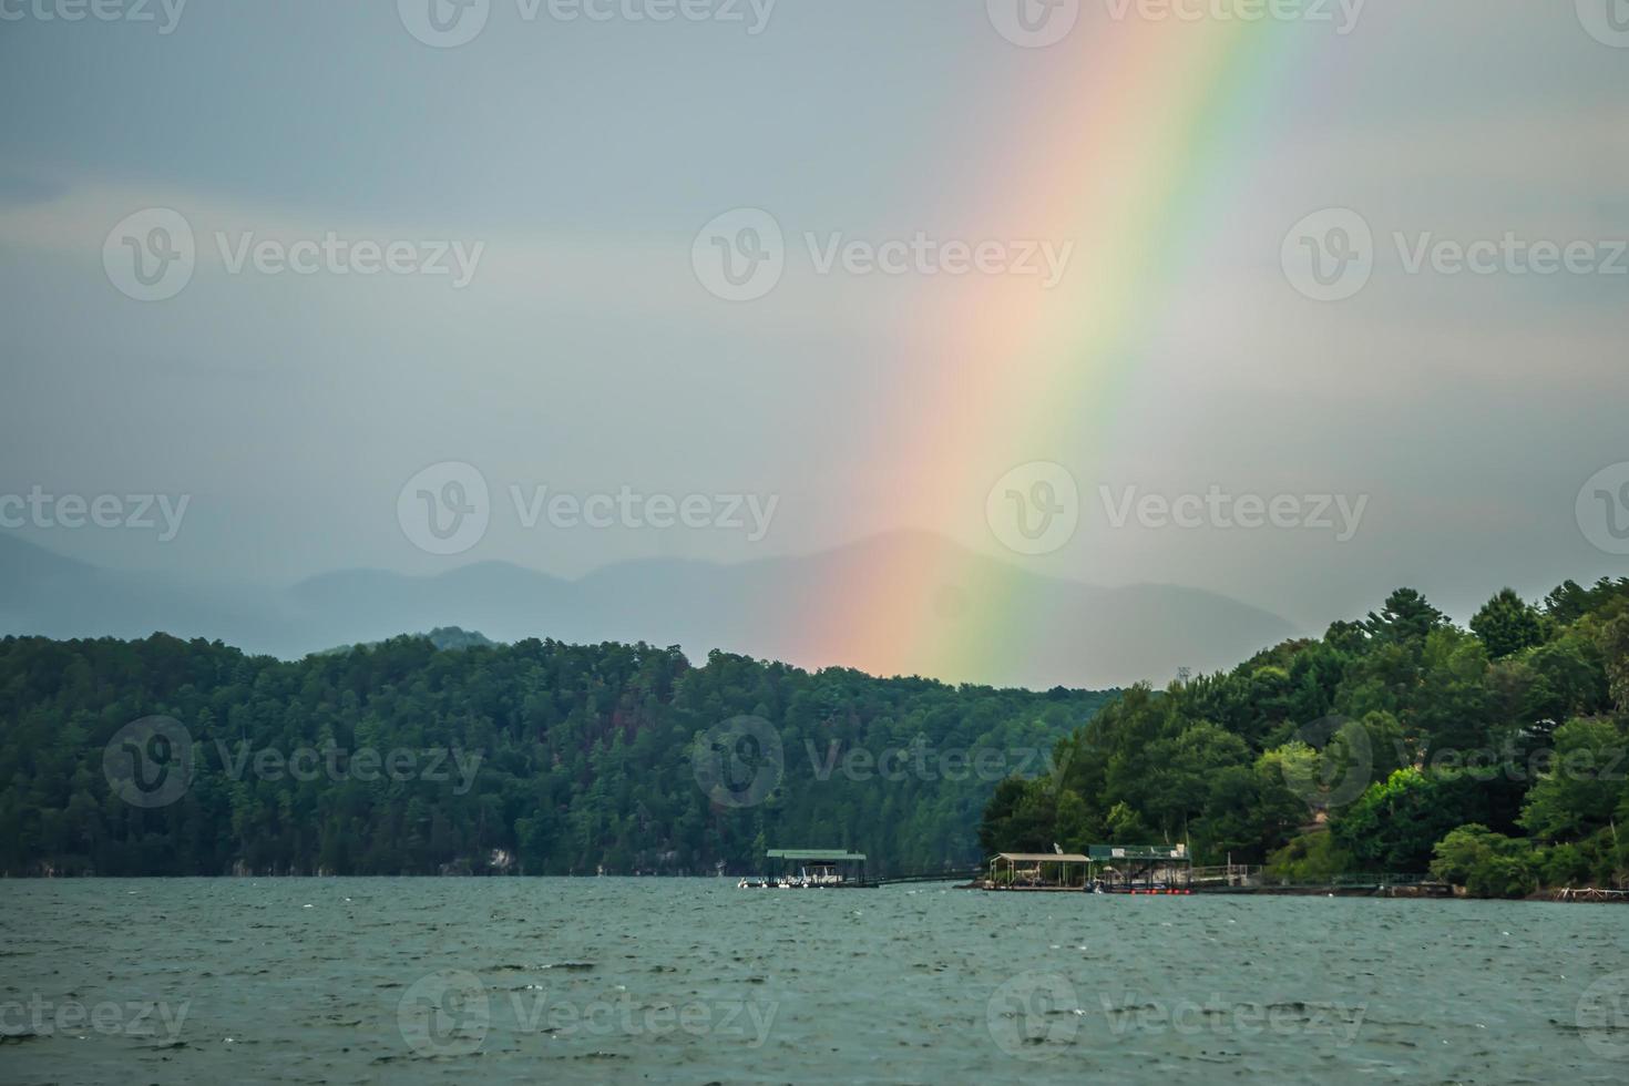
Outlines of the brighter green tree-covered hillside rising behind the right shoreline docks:
[{"label": "brighter green tree-covered hillside rising behind the right shoreline docks", "polygon": [[1227,674],[1134,687],[1003,782],[987,850],[1189,842],[1287,876],[1482,896],[1629,884],[1629,580],[1500,591],[1463,630],[1399,589]]}]

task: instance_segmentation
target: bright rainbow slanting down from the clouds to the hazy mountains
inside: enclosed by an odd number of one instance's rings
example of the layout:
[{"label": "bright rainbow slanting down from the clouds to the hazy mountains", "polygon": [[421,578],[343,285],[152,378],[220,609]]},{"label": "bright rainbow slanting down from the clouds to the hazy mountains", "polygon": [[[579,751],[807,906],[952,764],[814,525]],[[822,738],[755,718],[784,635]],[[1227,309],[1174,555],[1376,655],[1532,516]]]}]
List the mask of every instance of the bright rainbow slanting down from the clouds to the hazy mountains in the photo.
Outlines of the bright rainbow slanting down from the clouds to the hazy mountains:
[{"label": "bright rainbow slanting down from the clouds to the hazy mountains", "polygon": [[[1069,272],[1049,291],[989,277],[924,290],[933,301],[902,334],[914,361],[870,435],[870,462],[886,466],[872,484],[901,495],[906,523],[989,539],[986,495],[1028,461],[1062,462],[1088,488],[1082,440],[1101,454],[1117,389],[1183,298],[1184,254],[1248,181],[1253,132],[1287,93],[1289,39],[1329,39],[1266,21],[1091,21],[1096,5],[1083,8],[1069,39],[1016,50],[1031,75],[969,125],[984,134],[966,148],[974,184],[943,208],[969,239],[1074,241]],[[881,547],[847,578],[808,617],[801,661],[966,681],[1023,651],[1023,615],[982,558]]]}]

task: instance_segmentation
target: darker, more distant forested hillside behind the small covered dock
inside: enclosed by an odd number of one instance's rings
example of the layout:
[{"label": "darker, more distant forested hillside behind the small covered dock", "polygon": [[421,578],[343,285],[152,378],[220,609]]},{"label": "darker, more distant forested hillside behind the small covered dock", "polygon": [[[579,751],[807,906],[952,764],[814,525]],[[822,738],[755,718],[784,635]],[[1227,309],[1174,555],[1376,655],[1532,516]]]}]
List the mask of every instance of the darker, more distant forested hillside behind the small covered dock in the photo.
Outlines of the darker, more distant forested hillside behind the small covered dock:
[{"label": "darker, more distant forested hillside behind the small covered dock", "polygon": [[712,874],[766,847],[959,866],[997,780],[1106,698],[440,640],[468,648],[0,640],[0,871]]}]

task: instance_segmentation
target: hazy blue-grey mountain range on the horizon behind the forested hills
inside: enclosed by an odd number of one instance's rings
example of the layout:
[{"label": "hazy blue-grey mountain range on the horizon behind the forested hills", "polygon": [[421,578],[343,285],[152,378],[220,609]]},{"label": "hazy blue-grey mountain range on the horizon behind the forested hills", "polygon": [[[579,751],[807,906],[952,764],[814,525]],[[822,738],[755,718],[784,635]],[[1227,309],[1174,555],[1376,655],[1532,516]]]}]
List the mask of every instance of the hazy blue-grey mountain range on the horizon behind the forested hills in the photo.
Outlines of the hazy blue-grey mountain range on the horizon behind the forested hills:
[{"label": "hazy blue-grey mountain range on the horizon behind the forested hills", "polygon": [[[575,581],[482,562],[437,576],[342,570],[288,589],[121,573],[0,537],[3,633],[165,630],[301,656],[448,625],[505,642],[643,640],[683,645],[692,658],[723,648],[1030,687],[1161,682],[1178,666],[1223,668],[1297,633],[1215,593],[1038,576],[915,532],[740,565],[624,562]],[[945,645],[955,646],[948,658]]]}]

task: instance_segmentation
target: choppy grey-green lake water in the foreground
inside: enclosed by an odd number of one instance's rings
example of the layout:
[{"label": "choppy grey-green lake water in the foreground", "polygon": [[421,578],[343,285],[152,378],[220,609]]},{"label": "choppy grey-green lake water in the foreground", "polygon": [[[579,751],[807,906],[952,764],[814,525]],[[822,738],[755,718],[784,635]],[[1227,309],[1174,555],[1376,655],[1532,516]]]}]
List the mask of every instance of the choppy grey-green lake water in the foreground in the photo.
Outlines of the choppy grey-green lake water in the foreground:
[{"label": "choppy grey-green lake water in the foreground", "polygon": [[1629,1081],[1629,909],[20,881],[0,1079]]}]

